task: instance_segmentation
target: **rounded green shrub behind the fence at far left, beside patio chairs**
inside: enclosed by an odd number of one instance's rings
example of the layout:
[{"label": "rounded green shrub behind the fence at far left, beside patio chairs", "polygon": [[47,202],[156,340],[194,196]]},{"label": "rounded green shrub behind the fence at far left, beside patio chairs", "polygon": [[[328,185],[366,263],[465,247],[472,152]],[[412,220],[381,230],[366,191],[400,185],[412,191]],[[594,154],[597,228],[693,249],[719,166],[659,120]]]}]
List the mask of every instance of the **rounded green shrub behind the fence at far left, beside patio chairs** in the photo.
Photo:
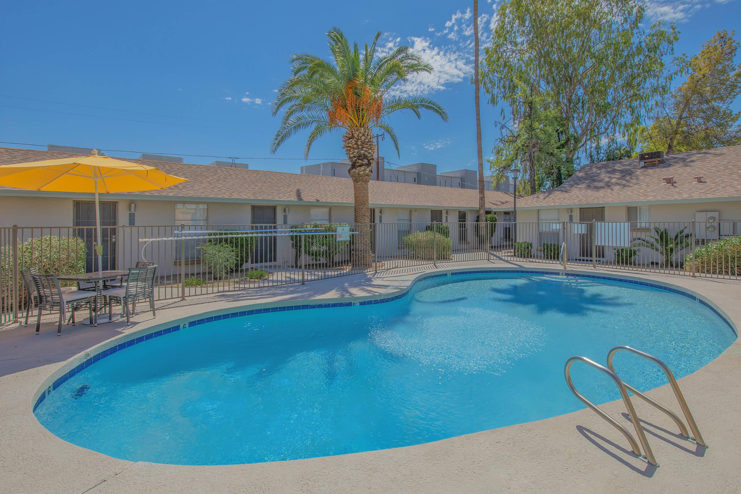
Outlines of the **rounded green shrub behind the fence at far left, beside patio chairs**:
[{"label": "rounded green shrub behind the fence at far left, beside patio chairs", "polygon": [[[29,238],[22,242],[18,252],[18,269],[35,267],[41,274],[75,275],[85,272],[87,247],[79,237],[44,236]],[[13,272],[13,250],[10,245],[0,251],[0,264],[3,273]],[[20,277],[19,277],[20,278]],[[24,303],[23,281],[16,287],[19,305]],[[4,307],[10,306],[10,277],[3,276],[0,282],[0,298]]]}]

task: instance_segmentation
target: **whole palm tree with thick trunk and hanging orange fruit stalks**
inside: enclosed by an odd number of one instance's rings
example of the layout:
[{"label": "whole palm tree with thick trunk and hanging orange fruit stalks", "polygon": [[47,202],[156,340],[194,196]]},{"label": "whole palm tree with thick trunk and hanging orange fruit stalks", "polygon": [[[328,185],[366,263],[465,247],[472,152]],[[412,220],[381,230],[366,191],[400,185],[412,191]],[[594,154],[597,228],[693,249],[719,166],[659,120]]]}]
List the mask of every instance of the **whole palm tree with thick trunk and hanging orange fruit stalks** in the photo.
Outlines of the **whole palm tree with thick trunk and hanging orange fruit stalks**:
[{"label": "whole palm tree with thick trunk and hanging orange fruit stalks", "polygon": [[332,60],[307,53],[294,55],[291,58],[293,76],[282,84],[273,103],[273,116],[284,110],[281,126],[273,138],[273,153],[290,136],[302,130],[310,130],[305,157],[309,156],[317,138],[333,130],[345,132],[342,143],[350,159],[353,180],[357,230],[353,264],[357,267],[371,264],[368,181],[376,152],[373,129],[383,130],[400,156],[396,132],[388,123],[391,113],[410,110],[419,119],[421,110],[430,110],[448,120],[445,109],[432,99],[387,96],[394,84],[405,81],[411,74],[431,73],[433,67],[408,46],[376,56],[380,36],[381,33],[377,33],[371,46],[366,44],[361,52],[357,43],[350,47],[342,31],[333,27],[327,33]]}]

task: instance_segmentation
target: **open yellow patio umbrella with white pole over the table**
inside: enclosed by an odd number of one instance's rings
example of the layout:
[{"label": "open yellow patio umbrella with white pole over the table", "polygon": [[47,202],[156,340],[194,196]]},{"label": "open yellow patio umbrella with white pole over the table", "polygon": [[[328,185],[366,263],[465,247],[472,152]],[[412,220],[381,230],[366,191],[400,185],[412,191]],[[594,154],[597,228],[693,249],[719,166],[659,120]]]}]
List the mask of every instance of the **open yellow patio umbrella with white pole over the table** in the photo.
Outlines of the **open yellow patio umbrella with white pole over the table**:
[{"label": "open yellow patio umbrella with white pole over the table", "polygon": [[0,166],[0,185],[25,190],[95,193],[98,271],[102,271],[103,246],[100,229],[98,193],[139,192],[159,190],[187,181],[144,164],[122,161],[109,156],[47,159],[30,163]]}]

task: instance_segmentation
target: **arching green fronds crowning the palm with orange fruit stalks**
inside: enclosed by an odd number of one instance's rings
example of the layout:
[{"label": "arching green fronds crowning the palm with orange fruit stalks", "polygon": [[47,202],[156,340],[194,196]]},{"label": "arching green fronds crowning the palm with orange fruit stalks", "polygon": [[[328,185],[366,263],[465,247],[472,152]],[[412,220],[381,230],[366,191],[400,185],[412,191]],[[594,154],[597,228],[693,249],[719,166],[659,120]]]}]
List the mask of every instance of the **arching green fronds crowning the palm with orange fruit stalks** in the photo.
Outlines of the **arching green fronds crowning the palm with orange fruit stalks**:
[{"label": "arching green fronds crowning the palm with orange fruit stalks", "polygon": [[[357,43],[350,44],[337,27],[333,27],[327,37],[330,59],[322,59],[310,53],[297,53],[290,59],[293,76],[281,84],[272,106],[273,116],[283,112],[280,127],[270,147],[273,153],[291,136],[308,130],[305,146],[305,154],[308,156],[316,139],[330,133],[337,126],[336,120],[330,120],[336,118],[332,117],[333,104],[341,101],[346,91],[354,90],[352,88],[359,88],[359,94],[370,94],[372,101],[376,101],[376,110],[373,110],[372,118],[350,119],[349,124],[345,122],[341,127],[350,128],[356,122],[359,127],[383,130],[391,138],[397,154],[399,141],[388,121],[391,113],[408,110],[419,119],[424,110],[448,120],[445,109],[432,99],[385,96],[395,84],[405,81],[408,76],[433,71],[433,67],[408,46],[376,56],[380,32],[376,33],[370,45],[365,44],[362,49]],[[377,110],[378,101],[380,111]]]}]

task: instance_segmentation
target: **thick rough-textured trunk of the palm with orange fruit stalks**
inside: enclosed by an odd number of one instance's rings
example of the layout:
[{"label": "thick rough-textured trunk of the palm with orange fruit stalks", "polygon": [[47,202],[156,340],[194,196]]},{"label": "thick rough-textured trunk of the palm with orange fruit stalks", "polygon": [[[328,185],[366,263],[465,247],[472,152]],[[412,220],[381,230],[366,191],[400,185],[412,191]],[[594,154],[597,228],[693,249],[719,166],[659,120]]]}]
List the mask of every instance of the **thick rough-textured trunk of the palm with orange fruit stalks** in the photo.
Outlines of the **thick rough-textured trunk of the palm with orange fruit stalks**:
[{"label": "thick rough-textured trunk of the palm with orange fruit stalks", "polygon": [[368,197],[368,182],[373,173],[373,132],[367,127],[348,129],[342,136],[343,147],[350,159],[350,178],[353,180],[355,202],[355,238],[353,267],[365,269],[371,266],[371,209]]}]

